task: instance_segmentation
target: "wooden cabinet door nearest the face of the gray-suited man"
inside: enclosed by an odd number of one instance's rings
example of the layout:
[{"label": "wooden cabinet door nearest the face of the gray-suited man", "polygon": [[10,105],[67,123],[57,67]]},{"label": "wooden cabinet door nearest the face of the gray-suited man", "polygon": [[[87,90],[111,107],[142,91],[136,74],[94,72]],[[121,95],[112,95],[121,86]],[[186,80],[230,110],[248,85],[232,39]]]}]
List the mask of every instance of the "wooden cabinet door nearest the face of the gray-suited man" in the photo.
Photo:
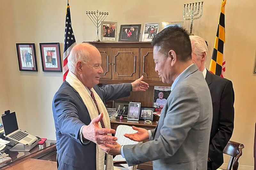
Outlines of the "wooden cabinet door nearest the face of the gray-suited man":
[{"label": "wooden cabinet door nearest the face of the gray-suited man", "polygon": [[162,81],[155,71],[153,48],[140,48],[140,76],[146,81]]}]

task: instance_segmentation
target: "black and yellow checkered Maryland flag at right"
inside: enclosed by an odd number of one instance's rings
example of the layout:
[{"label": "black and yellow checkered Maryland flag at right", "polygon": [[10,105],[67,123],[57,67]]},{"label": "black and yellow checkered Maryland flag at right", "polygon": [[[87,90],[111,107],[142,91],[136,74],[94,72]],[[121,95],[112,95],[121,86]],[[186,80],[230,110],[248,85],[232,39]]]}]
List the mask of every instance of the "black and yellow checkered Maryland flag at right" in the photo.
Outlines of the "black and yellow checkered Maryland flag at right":
[{"label": "black and yellow checkered Maryland flag at right", "polygon": [[226,59],[223,56],[224,43],[225,43],[225,5],[226,0],[222,0],[220,7],[220,19],[217,28],[217,34],[215,37],[213,52],[212,52],[212,60],[210,63],[209,70],[220,77],[225,76],[225,64]]}]

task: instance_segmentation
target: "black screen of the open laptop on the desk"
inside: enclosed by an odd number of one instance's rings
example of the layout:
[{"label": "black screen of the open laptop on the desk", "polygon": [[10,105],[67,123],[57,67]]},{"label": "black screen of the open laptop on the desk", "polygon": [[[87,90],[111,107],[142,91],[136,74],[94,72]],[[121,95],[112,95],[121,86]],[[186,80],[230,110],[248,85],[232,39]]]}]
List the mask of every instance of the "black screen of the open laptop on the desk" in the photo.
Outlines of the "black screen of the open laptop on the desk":
[{"label": "black screen of the open laptop on the desk", "polygon": [[15,112],[10,114],[2,115],[2,122],[4,126],[5,136],[9,135],[15,130],[18,130],[18,123]]}]

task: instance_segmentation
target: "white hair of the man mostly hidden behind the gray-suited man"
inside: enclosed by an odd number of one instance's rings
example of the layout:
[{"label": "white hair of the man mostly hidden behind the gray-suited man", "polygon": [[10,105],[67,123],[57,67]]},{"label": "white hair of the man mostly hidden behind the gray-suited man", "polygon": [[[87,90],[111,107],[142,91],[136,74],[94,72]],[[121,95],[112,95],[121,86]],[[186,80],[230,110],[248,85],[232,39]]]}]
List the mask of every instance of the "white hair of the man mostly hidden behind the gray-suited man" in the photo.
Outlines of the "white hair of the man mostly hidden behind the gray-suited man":
[{"label": "white hair of the man mostly hidden behind the gray-suited man", "polygon": [[206,62],[208,48],[204,39],[196,35],[190,35],[189,38],[191,41],[192,52],[196,54],[197,58],[202,56],[202,53],[205,52],[205,62]]}]

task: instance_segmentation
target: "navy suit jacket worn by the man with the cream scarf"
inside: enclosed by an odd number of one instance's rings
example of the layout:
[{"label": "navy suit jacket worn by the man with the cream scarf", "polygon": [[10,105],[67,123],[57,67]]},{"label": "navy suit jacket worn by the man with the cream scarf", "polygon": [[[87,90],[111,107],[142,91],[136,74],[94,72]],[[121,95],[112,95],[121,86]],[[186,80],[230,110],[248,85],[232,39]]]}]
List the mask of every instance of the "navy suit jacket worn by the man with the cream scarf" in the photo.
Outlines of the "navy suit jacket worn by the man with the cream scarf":
[{"label": "navy suit jacket worn by the man with the cream scarf", "polygon": [[[130,95],[132,85],[96,85],[93,88],[104,102]],[[90,115],[78,92],[66,81],[54,95],[52,112],[56,129],[58,169],[96,170],[96,144],[88,140],[87,144],[82,144],[79,137],[80,128],[91,122]]]}]

